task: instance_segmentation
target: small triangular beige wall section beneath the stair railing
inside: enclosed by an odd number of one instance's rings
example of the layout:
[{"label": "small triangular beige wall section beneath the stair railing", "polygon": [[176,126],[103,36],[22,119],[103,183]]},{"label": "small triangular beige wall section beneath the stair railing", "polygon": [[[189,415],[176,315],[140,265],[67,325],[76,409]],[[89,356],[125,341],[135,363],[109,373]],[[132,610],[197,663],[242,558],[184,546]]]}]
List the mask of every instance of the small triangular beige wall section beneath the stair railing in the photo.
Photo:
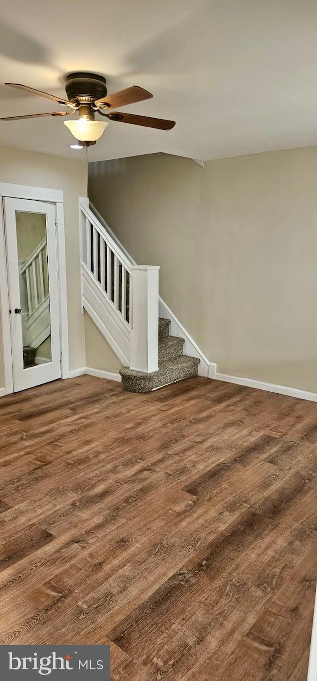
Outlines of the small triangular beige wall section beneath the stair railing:
[{"label": "small triangular beige wall section beneath the stair railing", "polygon": [[84,315],[84,328],[86,366],[118,373],[122,363],[87,313]]}]

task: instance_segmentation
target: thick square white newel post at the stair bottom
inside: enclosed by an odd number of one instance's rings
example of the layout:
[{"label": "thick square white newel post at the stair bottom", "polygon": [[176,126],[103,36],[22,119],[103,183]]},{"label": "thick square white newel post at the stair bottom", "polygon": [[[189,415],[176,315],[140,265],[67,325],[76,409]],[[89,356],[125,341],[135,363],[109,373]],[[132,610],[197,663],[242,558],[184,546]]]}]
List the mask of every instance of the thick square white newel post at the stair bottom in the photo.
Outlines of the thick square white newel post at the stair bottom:
[{"label": "thick square white newel post at the stair bottom", "polygon": [[157,371],[159,266],[132,266],[132,332],[130,368]]}]

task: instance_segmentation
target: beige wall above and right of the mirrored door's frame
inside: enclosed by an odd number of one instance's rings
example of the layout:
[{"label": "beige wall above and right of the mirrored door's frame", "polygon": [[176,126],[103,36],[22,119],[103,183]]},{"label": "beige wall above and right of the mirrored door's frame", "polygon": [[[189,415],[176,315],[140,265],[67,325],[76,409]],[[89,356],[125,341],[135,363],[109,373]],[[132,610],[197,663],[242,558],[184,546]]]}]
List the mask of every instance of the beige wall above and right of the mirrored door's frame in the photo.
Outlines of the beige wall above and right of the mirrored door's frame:
[{"label": "beige wall above and right of the mirrored door's frame", "polygon": [[[85,366],[79,279],[78,197],[87,195],[86,163],[0,147],[0,182],[64,191],[70,368]],[[0,387],[4,385],[0,337]]]}]

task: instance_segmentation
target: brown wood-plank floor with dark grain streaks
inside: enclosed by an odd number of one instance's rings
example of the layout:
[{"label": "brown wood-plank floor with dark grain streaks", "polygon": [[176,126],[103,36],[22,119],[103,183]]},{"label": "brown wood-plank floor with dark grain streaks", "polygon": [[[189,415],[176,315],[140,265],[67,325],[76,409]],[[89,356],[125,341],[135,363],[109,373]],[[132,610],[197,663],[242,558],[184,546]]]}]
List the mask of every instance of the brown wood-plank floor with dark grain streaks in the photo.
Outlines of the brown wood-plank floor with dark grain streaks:
[{"label": "brown wood-plank floor with dark grain streaks", "polygon": [[83,376],[0,410],[1,644],[110,642],[112,681],[305,681],[316,404]]}]

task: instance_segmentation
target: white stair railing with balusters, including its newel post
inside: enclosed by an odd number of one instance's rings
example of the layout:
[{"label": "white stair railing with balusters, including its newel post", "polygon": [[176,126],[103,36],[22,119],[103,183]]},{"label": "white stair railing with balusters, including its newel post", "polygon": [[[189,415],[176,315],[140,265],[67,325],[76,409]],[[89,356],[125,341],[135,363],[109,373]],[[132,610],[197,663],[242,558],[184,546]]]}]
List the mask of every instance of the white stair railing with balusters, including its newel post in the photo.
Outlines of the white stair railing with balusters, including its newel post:
[{"label": "white stair railing with balusters, including its newel post", "polygon": [[124,364],[158,369],[158,266],[134,266],[88,200],[79,201],[83,309]]}]

